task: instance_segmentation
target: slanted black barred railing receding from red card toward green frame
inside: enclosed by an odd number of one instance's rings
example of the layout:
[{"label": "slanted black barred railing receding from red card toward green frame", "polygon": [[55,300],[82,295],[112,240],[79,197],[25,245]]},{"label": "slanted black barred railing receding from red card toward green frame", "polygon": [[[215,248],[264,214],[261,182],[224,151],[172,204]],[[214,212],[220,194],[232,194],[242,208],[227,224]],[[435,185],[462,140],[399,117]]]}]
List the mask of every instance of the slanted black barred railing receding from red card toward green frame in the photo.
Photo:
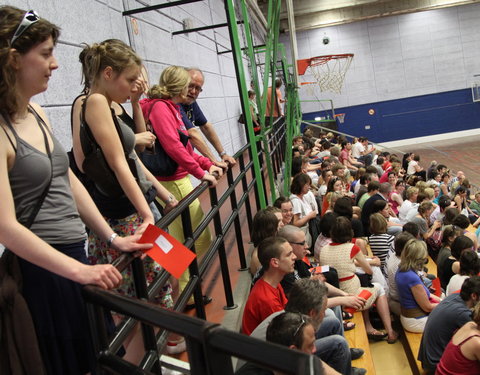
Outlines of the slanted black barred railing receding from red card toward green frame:
[{"label": "slanted black barred railing receding from red card toward green frame", "polygon": [[[283,161],[283,153],[281,143],[285,138],[285,129],[283,123],[278,127],[269,131],[267,134],[269,150],[265,155],[269,155],[272,162],[279,166]],[[215,259],[218,259],[220,265],[220,272],[222,275],[223,289],[225,293],[225,309],[234,309],[237,304],[233,298],[232,285],[230,280],[230,269],[228,262],[228,254],[225,246],[225,238],[230,233],[235,234],[235,243],[238,252],[238,258],[240,262],[240,271],[247,269],[247,261],[245,256],[245,247],[242,238],[242,219],[246,220],[249,231],[252,226],[252,216],[254,209],[252,208],[252,190],[255,194],[256,208],[259,209],[258,191],[256,187],[256,176],[253,168],[252,158],[248,157],[248,151],[250,151],[249,145],[242,147],[235,155],[238,167],[230,168],[226,172],[227,187],[223,194],[218,197],[217,188],[209,188],[207,182],[202,182],[197,186],[190,194],[182,199],[178,206],[163,216],[156,225],[162,229],[167,229],[168,226],[179,216],[181,216],[184,238],[184,245],[191,251],[195,252],[195,241],[202,234],[202,232],[213,224],[214,235],[211,245],[203,258],[199,261],[195,258],[189,266],[190,279],[183,289],[182,293],[178,297],[174,310],[176,312],[182,312],[188,300],[194,297],[196,315],[198,318],[206,319],[205,308],[202,298],[202,278],[206,275],[209,267]],[[265,165],[265,163],[264,163]],[[279,168],[277,167],[277,173]],[[251,175],[250,175],[251,172]],[[263,178],[263,177],[261,177]],[[223,185],[222,185],[223,186]],[[190,220],[190,204],[200,197],[205,191],[208,190],[210,195],[211,207],[208,212],[205,213],[204,219],[199,223],[198,227],[193,228]],[[263,193],[262,193],[263,194]],[[228,215],[222,212],[221,208],[226,206],[223,211],[228,211]],[[228,207],[229,206],[229,207]],[[243,211],[244,210],[244,211]],[[256,211],[256,210],[255,210]],[[243,214],[244,213],[244,214]],[[226,216],[226,217],[225,217]],[[235,246],[230,246],[234,248]],[[170,274],[163,270],[157,277],[147,285],[145,278],[145,270],[143,267],[143,261],[139,258],[133,258],[130,254],[123,254],[115,262],[114,265],[123,271],[126,267],[132,267],[133,282],[135,286],[136,297],[142,301],[153,301],[155,296],[158,295],[163,286],[168,282]],[[87,288],[88,289],[88,288]],[[98,293],[97,293],[98,294]],[[113,293],[109,293],[111,295]],[[98,298],[90,301],[96,303]],[[104,369],[110,369],[113,366],[112,362],[115,362],[115,356],[104,355],[102,353],[117,353],[121,349],[122,343],[133,332],[137,325],[136,311],[129,310],[129,307],[123,306],[121,310],[113,309],[114,311],[122,313],[125,318],[116,327],[115,333],[108,339],[106,338],[106,330],[101,327],[99,323],[102,321],[103,314],[99,313],[96,308],[90,308],[90,320],[95,327],[93,332],[95,340],[95,348],[97,353],[101,353],[99,357],[99,364]],[[109,306],[106,306],[109,307]],[[132,307],[133,308],[133,307]],[[161,309],[160,309],[161,310]],[[178,317],[184,317],[182,314],[176,313]],[[183,318],[179,318],[182,320]],[[100,324],[100,326],[99,326]],[[175,331],[170,325],[158,325],[162,328],[168,328],[169,331]],[[159,330],[155,332],[154,327],[150,324],[141,323],[141,331],[143,336],[145,355],[140,362],[140,367],[144,370],[153,371],[158,373],[160,367],[158,365],[158,353],[166,345],[168,332],[165,330]],[[176,331],[175,331],[176,332]],[[98,335],[97,335],[98,334]],[[183,334],[183,333],[182,333]],[[188,342],[187,342],[188,344]],[[189,356],[189,361],[192,363],[192,357]],[[130,368],[128,363],[116,362],[115,366],[118,368]],[[130,370],[129,370],[130,371]]]}]

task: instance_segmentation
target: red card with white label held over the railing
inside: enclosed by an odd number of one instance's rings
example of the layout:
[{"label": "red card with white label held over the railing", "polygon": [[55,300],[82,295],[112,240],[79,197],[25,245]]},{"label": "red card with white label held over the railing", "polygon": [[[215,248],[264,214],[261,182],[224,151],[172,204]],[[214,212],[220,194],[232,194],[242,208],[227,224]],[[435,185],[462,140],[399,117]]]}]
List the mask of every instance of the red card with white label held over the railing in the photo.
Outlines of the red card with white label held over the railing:
[{"label": "red card with white label held over the railing", "polygon": [[155,225],[150,224],[138,242],[152,243],[153,247],[145,254],[177,279],[196,257],[189,248]]}]

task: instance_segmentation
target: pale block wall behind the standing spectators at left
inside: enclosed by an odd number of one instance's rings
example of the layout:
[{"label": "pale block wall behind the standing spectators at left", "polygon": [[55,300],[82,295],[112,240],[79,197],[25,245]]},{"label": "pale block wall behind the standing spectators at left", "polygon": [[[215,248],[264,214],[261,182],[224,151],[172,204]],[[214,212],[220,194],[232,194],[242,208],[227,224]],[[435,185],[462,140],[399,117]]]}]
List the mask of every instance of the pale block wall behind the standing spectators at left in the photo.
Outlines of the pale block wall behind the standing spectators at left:
[{"label": "pale block wall behind the standing spectators at left", "polygon": [[[35,101],[47,106],[54,133],[69,149],[70,104],[81,91],[81,69],[78,54],[81,43],[100,42],[108,38],[130,43],[127,27],[130,18],[123,10],[153,5],[158,1],[135,0],[7,0],[4,4],[34,9],[41,17],[61,27],[55,50],[59,69],[54,72],[46,93]],[[223,1],[207,0],[135,15],[139,33],[133,35],[132,47],[144,59],[151,83],[157,82],[168,65],[197,66],[206,76],[199,104],[226,149],[233,154],[244,144],[243,125],[238,124],[240,100],[231,54],[217,55],[230,49],[227,28],[173,36],[182,29],[182,20],[190,18],[193,27],[226,22]],[[128,26],[127,26],[128,25]]]}]

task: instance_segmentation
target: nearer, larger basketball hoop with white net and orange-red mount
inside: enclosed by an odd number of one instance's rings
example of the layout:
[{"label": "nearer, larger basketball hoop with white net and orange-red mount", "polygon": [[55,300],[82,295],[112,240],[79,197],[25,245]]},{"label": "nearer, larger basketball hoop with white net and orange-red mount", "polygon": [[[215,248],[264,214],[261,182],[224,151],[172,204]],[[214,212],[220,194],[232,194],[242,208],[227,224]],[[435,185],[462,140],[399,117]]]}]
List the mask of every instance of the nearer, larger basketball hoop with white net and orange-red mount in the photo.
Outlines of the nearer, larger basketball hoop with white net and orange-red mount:
[{"label": "nearer, larger basketball hoop with white net and orange-red mount", "polygon": [[298,74],[304,75],[306,70],[310,68],[320,91],[333,91],[340,94],[345,74],[352,63],[352,59],[353,53],[345,53],[297,60]]}]

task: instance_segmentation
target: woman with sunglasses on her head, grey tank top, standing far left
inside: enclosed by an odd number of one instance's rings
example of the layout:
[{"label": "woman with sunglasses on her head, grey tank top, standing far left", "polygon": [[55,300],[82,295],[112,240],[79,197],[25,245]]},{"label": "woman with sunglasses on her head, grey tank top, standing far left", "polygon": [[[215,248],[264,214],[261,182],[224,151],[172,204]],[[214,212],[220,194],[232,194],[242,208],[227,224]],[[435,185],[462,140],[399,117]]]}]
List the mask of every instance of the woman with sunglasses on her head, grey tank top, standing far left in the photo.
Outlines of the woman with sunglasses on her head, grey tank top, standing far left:
[{"label": "woman with sunglasses on her head, grey tank top, standing far left", "polygon": [[81,220],[116,250],[151,245],[110,229],[68,169],[44,111],[30,102],[58,68],[57,26],[10,6],[0,8],[0,19],[0,242],[18,256],[46,372],[85,374],[95,369],[95,356],[81,284],[110,289],[121,275],[112,265],[87,265]]}]

